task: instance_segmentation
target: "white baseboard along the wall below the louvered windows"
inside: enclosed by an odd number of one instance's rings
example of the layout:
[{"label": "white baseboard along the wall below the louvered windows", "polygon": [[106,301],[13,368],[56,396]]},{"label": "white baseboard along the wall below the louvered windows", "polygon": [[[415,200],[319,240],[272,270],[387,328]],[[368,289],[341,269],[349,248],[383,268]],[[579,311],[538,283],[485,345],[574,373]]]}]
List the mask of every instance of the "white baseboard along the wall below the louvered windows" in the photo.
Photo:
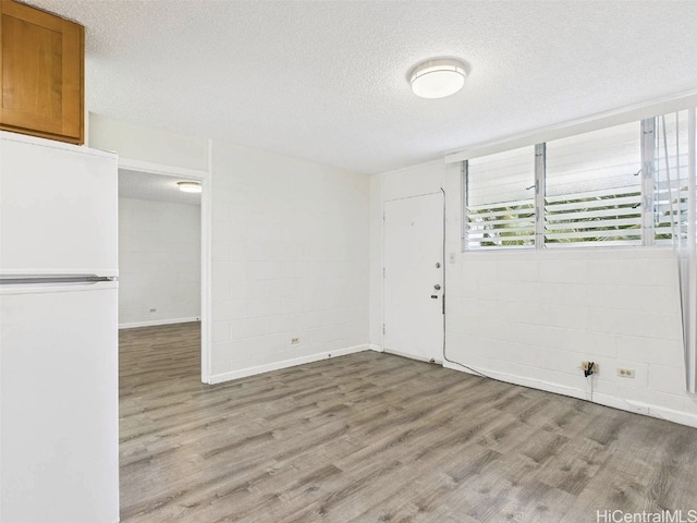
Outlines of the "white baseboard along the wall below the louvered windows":
[{"label": "white baseboard along the wall below the louvered windows", "polygon": [[[462,370],[467,374],[473,374],[467,369],[464,369],[457,365],[445,362],[443,367],[452,368],[454,370]],[[574,387],[565,387],[559,384],[552,384],[549,381],[541,381],[537,379],[525,378],[522,376],[515,376],[512,374],[498,373],[496,370],[489,370],[485,368],[475,368],[475,370],[481,370],[482,374],[491,376],[492,378],[500,379],[508,384],[522,385],[531,389],[545,390],[547,392],[554,392],[557,394],[568,396],[571,398],[578,398],[579,400],[590,401],[590,393],[586,390],[577,389]],[[657,417],[659,419],[667,419],[669,422],[678,423],[681,425],[687,425],[689,427],[697,428],[697,414],[690,414],[688,412],[675,411],[664,406],[653,405],[650,403],[643,403],[635,400],[628,400],[625,398],[617,398],[615,396],[594,393],[592,402],[599,405],[612,406],[621,411],[634,412],[636,414],[644,414],[646,416]]]}]

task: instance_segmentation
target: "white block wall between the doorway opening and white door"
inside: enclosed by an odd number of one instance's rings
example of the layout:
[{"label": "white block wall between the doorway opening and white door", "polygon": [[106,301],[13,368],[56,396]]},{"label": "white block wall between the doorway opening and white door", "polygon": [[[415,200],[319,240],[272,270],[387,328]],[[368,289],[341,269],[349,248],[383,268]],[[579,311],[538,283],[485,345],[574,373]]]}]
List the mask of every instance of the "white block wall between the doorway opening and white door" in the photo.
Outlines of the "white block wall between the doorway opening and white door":
[{"label": "white block wall between the doorway opening and white door", "polygon": [[211,381],[367,349],[368,177],[215,142],[211,192]]}]

